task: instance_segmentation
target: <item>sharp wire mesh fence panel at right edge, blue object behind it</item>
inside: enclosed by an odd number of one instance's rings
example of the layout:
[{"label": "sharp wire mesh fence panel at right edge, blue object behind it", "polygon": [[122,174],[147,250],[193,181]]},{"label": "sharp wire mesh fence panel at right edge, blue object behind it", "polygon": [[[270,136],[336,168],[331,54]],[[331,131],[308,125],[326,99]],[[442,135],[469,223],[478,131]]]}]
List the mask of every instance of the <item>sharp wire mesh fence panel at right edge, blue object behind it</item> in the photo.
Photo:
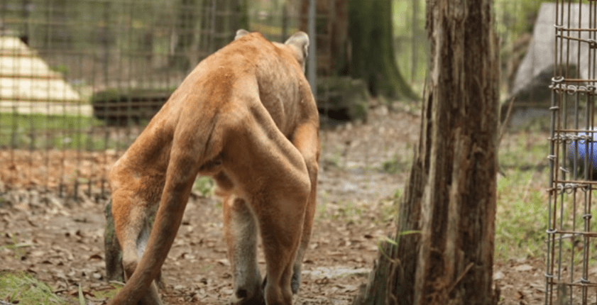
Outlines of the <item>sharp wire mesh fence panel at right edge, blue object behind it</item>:
[{"label": "sharp wire mesh fence panel at right edge, blue object behind it", "polygon": [[592,221],[597,190],[597,4],[575,2],[549,6],[555,39],[546,57],[554,69],[545,304],[597,301],[597,223]]}]

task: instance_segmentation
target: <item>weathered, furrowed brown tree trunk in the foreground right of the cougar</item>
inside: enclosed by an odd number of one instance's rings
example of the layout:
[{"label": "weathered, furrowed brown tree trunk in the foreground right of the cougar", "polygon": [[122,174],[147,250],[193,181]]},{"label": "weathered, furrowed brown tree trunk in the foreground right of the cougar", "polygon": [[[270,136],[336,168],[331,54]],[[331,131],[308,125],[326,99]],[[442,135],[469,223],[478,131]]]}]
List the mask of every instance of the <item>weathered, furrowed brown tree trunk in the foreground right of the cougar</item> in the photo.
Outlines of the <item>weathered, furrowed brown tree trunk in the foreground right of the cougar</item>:
[{"label": "weathered, furrowed brown tree trunk in the foreground right of the cougar", "polygon": [[355,304],[497,304],[499,74],[492,8],[491,0],[427,1],[431,77],[420,143],[396,245],[378,257],[390,267],[375,268],[385,277],[372,277],[366,289],[387,293],[383,301],[365,303],[363,295]]}]

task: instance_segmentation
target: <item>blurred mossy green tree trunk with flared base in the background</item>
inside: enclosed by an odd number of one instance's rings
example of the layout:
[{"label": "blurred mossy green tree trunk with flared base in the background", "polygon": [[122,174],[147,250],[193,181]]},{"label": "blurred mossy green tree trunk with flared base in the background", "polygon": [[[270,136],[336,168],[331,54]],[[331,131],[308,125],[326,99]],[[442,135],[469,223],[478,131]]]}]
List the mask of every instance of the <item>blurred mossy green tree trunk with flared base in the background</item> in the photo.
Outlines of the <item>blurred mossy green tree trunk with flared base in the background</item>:
[{"label": "blurred mossy green tree trunk with flared base in the background", "polygon": [[349,38],[351,75],[373,95],[417,99],[396,65],[390,0],[349,0]]}]

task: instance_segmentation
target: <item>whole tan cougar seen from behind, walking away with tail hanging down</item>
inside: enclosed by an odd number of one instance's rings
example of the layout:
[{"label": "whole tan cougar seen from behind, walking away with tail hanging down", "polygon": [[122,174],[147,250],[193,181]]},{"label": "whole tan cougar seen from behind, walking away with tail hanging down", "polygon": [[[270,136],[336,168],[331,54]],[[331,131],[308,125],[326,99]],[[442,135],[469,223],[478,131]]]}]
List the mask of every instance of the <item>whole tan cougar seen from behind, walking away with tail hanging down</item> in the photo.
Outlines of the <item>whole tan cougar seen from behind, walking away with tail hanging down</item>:
[{"label": "whole tan cougar seen from behind, walking away with tail hanging down", "polygon": [[237,31],[199,62],[114,164],[112,214],[126,285],[109,304],[161,304],[154,279],[197,174],[212,177],[223,200],[233,301],[292,304],[317,193],[319,116],[304,74],[308,45],[302,32],[271,43]]}]

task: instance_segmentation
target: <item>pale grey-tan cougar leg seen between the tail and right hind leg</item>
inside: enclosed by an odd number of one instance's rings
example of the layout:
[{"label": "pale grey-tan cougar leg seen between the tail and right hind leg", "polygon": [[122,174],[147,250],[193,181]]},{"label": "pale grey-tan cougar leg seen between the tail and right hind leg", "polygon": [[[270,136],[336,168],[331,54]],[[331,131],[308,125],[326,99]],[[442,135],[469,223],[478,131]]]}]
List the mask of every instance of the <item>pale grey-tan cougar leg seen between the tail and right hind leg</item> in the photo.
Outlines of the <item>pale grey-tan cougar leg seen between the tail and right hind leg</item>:
[{"label": "pale grey-tan cougar leg seen between the tail and right hind leg", "polygon": [[224,197],[224,238],[234,277],[235,304],[265,304],[257,265],[257,225],[246,201],[229,194]]}]

